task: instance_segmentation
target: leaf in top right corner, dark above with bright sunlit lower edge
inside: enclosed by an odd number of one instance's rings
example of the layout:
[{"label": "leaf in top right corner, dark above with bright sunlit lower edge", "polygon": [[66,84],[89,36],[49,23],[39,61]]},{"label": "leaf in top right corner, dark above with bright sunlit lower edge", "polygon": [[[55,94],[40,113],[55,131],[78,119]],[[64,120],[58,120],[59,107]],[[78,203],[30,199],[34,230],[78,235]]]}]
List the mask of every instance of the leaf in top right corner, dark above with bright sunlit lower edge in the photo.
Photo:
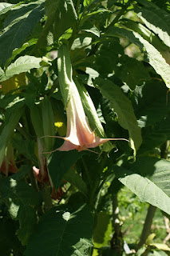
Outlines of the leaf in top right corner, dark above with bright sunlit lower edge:
[{"label": "leaf in top right corner, dark above with bright sunlit lower edge", "polygon": [[140,8],[136,10],[137,15],[152,30],[165,45],[170,47],[170,15],[161,9]]}]

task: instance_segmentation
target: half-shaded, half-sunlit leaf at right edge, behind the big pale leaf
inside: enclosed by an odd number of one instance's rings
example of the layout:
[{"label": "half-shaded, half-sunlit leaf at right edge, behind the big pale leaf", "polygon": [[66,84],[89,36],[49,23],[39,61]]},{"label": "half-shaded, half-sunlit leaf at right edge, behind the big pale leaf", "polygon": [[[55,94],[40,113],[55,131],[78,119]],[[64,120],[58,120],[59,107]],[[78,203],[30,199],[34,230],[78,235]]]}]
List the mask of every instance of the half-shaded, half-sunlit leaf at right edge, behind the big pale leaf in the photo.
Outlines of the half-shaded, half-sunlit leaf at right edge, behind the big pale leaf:
[{"label": "half-shaded, half-sunlit leaf at right edge, behind the big pale leaf", "polygon": [[138,157],[130,170],[154,182],[170,197],[170,162],[164,159]]}]

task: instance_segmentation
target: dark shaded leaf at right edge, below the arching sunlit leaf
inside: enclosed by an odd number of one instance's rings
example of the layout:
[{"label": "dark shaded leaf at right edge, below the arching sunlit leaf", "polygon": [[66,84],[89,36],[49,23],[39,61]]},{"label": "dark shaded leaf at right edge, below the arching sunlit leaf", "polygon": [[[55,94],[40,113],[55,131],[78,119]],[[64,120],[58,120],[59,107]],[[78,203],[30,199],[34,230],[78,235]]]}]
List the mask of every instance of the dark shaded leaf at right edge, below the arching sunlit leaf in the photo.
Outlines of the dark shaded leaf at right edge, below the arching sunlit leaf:
[{"label": "dark shaded leaf at right edge, below the arching sunlit leaf", "polygon": [[[153,94],[154,91],[154,94]],[[139,126],[153,126],[168,117],[170,110],[170,95],[166,102],[167,87],[162,81],[151,80],[144,86],[136,87],[132,94],[134,107]]]}]

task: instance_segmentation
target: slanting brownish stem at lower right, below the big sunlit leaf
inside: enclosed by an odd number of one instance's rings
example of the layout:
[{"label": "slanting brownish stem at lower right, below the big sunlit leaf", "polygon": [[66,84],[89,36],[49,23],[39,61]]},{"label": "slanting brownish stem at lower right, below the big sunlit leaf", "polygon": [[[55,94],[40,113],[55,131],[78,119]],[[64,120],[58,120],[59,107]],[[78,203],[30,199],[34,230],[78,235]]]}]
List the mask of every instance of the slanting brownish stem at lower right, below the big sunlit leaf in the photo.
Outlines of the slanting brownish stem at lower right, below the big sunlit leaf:
[{"label": "slanting brownish stem at lower right, below the big sunlit leaf", "polygon": [[152,219],[153,219],[155,213],[156,213],[156,206],[149,205],[148,213],[145,218],[143,230],[140,235],[140,242],[137,245],[137,249],[139,249],[141,246],[143,246],[144,243],[146,242],[146,239],[148,238],[148,235],[151,232]]}]

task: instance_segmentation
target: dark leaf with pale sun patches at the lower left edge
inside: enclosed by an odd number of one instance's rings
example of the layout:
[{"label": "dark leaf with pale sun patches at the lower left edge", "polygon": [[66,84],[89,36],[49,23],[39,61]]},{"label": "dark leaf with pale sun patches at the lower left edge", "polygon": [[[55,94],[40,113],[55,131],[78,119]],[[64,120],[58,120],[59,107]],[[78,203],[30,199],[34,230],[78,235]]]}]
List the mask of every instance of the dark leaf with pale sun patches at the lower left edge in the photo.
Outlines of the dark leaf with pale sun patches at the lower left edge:
[{"label": "dark leaf with pale sun patches at the lower left edge", "polygon": [[[26,169],[29,171],[30,166],[23,166],[22,169],[20,172],[26,172]],[[39,196],[32,186],[21,179],[19,173],[9,178],[0,178],[0,194],[1,199],[9,207],[11,217],[19,220],[18,238],[26,245],[37,223],[34,206],[39,205]]]}]

